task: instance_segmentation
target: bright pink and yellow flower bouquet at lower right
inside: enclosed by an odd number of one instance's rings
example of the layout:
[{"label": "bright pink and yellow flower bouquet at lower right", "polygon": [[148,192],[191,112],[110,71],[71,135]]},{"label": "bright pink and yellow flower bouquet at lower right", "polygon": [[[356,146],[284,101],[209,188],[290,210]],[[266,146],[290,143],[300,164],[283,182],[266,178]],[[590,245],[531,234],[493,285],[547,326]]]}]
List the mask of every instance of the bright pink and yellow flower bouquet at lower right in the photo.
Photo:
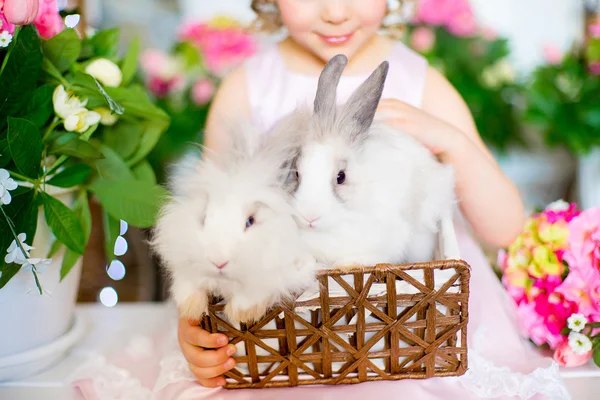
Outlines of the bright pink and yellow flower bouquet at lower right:
[{"label": "bright pink and yellow flower bouquet at lower right", "polygon": [[523,334],[562,366],[600,366],[600,207],[550,204],[498,264]]}]

